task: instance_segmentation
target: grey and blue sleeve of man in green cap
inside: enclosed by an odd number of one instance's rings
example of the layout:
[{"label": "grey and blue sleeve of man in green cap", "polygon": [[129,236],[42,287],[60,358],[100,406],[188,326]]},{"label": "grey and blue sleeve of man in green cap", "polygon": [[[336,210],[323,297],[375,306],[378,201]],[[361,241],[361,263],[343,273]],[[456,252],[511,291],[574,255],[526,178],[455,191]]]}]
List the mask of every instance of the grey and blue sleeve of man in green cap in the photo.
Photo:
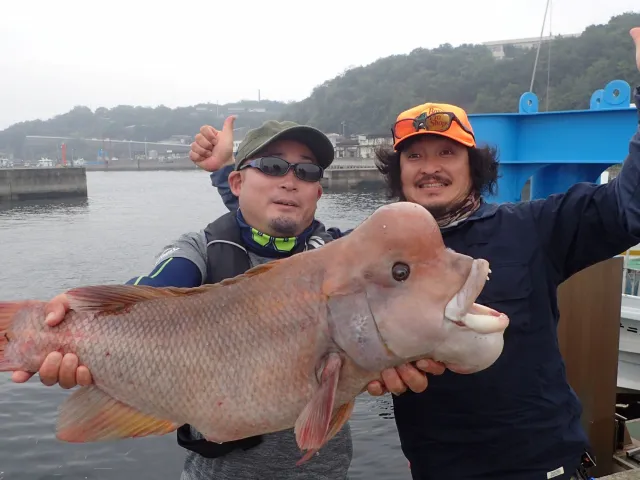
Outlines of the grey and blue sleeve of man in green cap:
[{"label": "grey and blue sleeve of man in green cap", "polygon": [[148,275],[134,277],[126,283],[152,287],[198,287],[204,283],[206,272],[204,232],[192,232],[165,246]]}]

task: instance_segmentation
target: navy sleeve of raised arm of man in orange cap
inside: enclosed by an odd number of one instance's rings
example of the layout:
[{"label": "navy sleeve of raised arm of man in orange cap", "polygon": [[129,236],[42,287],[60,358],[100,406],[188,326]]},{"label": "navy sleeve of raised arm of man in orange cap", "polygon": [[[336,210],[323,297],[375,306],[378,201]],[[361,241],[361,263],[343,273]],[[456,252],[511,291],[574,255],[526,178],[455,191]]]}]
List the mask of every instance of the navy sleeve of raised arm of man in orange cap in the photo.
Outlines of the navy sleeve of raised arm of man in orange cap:
[{"label": "navy sleeve of raised arm of man in orange cap", "polygon": [[[634,96],[640,110],[640,87]],[[639,187],[640,128],[612,181],[603,185],[578,183],[563,194],[529,203],[558,284],[640,243]]]}]

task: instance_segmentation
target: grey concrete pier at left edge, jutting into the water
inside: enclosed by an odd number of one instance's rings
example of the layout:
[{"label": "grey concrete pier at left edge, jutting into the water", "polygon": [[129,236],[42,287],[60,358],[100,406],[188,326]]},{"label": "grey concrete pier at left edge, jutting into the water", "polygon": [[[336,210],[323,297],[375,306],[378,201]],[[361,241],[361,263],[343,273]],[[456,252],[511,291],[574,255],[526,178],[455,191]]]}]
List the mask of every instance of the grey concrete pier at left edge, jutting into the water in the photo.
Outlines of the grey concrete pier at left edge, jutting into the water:
[{"label": "grey concrete pier at left edge, jutting into the water", "polygon": [[84,168],[0,168],[0,202],[87,196]]}]

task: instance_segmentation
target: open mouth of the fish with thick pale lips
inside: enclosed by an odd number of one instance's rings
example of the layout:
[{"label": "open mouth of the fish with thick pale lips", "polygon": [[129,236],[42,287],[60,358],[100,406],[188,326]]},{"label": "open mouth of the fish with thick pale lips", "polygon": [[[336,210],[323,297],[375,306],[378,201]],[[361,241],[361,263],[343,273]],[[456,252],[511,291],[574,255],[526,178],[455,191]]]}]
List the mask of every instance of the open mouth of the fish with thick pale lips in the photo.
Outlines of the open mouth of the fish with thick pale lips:
[{"label": "open mouth of the fish with thick pale lips", "polygon": [[450,322],[482,334],[499,333],[507,328],[509,318],[505,314],[474,302],[490,273],[489,262],[482,259],[473,261],[464,285],[445,307],[444,316]]}]

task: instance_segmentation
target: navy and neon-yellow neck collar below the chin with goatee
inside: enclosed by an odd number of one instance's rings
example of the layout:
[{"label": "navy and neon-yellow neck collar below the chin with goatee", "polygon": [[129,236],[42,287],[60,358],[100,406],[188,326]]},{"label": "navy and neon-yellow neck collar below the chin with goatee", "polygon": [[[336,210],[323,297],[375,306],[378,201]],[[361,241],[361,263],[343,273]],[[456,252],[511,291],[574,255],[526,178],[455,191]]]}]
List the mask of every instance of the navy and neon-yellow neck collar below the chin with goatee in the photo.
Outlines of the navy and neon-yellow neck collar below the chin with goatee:
[{"label": "navy and neon-yellow neck collar below the chin with goatee", "polygon": [[293,253],[305,250],[307,240],[319,224],[314,220],[304,232],[295,237],[272,237],[247,224],[239,208],[236,211],[236,221],[247,249],[256,255],[269,258],[289,257]]}]

